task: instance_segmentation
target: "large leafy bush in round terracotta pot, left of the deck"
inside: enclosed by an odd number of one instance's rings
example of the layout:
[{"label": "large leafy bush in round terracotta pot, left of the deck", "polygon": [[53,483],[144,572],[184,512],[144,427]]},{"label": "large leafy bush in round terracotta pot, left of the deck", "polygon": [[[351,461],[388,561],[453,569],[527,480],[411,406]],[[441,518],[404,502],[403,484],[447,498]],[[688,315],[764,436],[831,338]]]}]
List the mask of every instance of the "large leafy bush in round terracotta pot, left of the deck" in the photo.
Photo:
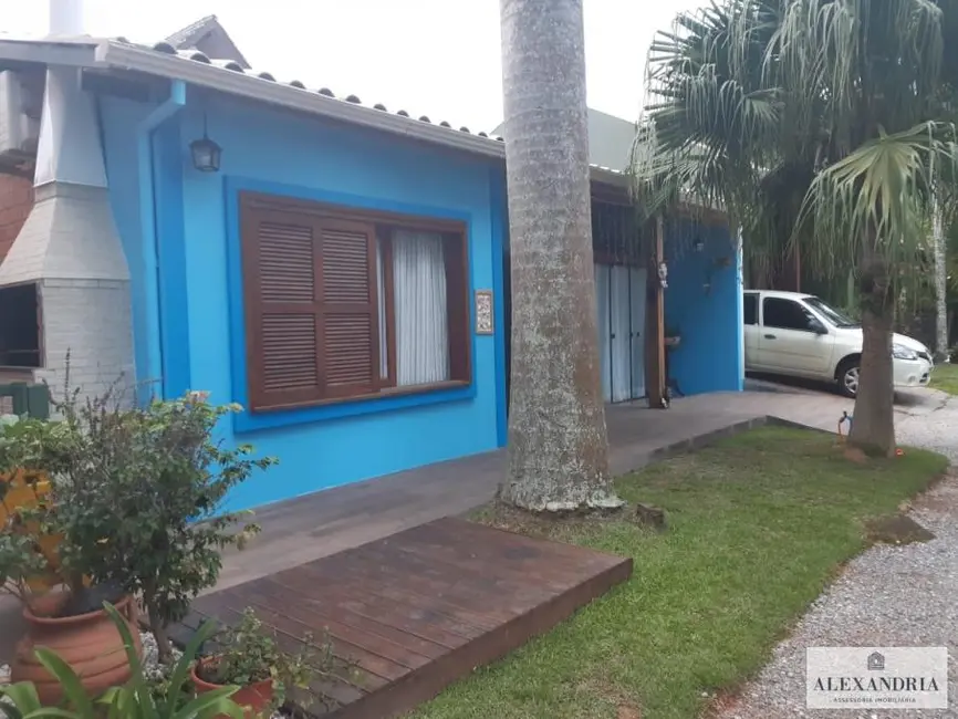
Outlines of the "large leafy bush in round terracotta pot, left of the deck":
[{"label": "large leafy bush in round terracotta pot, left of the deck", "polygon": [[[15,528],[8,522],[0,574],[9,577],[7,586],[27,586],[42,562],[35,556],[40,534],[61,538],[62,586],[41,596],[20,593],[29,631],[11,665],[14,681],[32,681],[41,699],[53,702],[61,689],[38,661],[37,646],[60,648],[92,694],[129,678],[104,601],[132,626],[131,597],[142,596],[160,659],[170,663],[167,625],[216,583],[220,551],[242,546],[257,531],[243,523],[246,514],[222,512],[226,494],[274,461],[253,459],[248,446],[216,441],[217,423],[237,407],[214,407],[202,393],[137,407],[116,392],[119,383],[95,397],[69,387],[67,377],[63,399],[51,400],[55,421],[18,423],[15,441],[0,446],[0,471],[37,468],[50,480],[49,497],[18,510],[23,521]],[[37,530],[32,542],[25,527]],[[140,654],[139,633],[133,636]]]}]

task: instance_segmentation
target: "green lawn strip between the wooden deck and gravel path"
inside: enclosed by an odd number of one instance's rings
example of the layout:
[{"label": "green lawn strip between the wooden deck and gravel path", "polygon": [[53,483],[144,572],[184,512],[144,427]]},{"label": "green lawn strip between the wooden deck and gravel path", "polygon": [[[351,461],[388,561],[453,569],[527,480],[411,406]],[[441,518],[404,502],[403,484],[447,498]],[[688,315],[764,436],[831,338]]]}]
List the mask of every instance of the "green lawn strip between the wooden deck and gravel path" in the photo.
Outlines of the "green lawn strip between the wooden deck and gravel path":
[{"label": "green lawn strip between the wooden deck and gravel path", "polygon": [[[946,460],[858,466],[832,437],[762,428],[622,478],[632,502],[663,507],[669,530],[624,520],[527,521],[524,531],[635,559],[633,579],[478,670],[416,719],[690,719],[704,692],[756,673],[839,566],[863,523],[896,512]],[[514,527],[486,510],[481,521]]]}]

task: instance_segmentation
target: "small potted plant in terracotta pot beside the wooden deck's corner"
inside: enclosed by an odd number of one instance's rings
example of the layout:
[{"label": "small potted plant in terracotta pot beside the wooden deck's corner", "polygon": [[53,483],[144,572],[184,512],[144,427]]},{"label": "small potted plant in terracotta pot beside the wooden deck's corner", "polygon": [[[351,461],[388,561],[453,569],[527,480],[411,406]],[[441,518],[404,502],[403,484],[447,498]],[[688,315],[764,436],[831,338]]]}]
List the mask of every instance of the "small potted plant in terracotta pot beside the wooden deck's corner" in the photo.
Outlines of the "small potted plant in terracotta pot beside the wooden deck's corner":
[{"label": "small potted plant in terracotta pot beside the wooden deck's corner", "polygon": [[296,653],[280,649],[275,634],[268,634],[256,612],[247,607],[235,627],[212,636],[212,655],[194,664],[191,678],[199,692],[237,685],[233,695],[247,716],[269,716],[283,705],[291,687],[306,689],[314,675],[329,673],[333,661],[332,645],[313,642],[311,634],[301,638]]}]

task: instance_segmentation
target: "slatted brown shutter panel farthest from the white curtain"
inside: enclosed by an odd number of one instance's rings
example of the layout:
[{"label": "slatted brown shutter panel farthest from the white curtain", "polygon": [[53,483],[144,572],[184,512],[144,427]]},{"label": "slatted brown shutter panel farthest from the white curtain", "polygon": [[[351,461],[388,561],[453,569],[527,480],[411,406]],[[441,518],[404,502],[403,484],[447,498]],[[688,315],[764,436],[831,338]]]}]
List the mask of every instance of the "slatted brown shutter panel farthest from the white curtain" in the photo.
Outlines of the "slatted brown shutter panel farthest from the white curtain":
[{"label": "slatted brown shutter panel farthest from the white curtain", "polygon": [[319,400],[323,393],[316,219],[244,208],[242,222],[251,407]]}]

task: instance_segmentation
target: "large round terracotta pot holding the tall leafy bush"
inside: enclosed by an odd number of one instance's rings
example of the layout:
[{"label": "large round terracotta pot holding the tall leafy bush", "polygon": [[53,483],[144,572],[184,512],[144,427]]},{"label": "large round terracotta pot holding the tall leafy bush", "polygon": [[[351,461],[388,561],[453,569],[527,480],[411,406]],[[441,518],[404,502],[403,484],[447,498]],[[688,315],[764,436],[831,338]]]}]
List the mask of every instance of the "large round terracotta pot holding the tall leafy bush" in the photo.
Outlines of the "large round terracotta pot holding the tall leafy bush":
[{"label": "large round terracotta pot holding the tall leafy bush", "polygon": [[[23,609],[29,625],[27,636],[17,644],[10,668],[12,681],[32,681],[44,706],[54,706],[63,699],[56,679],[37,659],[34,649],[46,647],[69,664],[86,691],[96,697],[110,687],[119,686],[132,675],[123,637],[110,615],[103,609],[70,617],[53,617],[65,595],[51,593],[34,600]],[[137,655],[143,655],[139,631],[129,622],[131,597],[116,603],[126,618]]]}]

